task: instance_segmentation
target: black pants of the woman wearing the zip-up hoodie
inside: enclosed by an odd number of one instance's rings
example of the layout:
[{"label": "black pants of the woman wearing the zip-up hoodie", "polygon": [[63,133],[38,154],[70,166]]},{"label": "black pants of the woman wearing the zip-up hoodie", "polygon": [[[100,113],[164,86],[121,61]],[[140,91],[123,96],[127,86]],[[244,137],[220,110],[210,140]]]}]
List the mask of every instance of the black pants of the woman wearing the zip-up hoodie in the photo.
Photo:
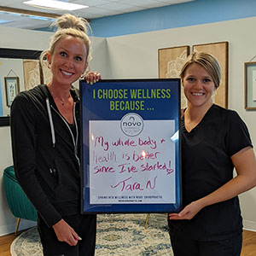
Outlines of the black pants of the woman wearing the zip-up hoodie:
[{"label": "black pants of the woman wearing the zip-up hoodie", "polygon": [[38,215],[38,231],[44,256],[93,256],[96,245],[96,215],[76,214],[63,218],[82,238],[75,247],[58,241],[53,228],[49,228]]}]

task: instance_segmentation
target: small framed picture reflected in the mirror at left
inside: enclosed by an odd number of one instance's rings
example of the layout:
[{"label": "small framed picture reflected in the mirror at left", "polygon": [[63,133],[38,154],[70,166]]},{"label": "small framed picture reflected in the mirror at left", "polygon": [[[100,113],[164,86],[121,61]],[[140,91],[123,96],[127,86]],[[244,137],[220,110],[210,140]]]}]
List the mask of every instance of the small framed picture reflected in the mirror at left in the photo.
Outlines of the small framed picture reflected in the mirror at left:
[{"label": "small framed picture reflected in the mirror at left", "polygon": [[15,99],[15,96],[20,92],[20,79],[19,77],[5,77],[5,95],[6,105],[10,107]]}]

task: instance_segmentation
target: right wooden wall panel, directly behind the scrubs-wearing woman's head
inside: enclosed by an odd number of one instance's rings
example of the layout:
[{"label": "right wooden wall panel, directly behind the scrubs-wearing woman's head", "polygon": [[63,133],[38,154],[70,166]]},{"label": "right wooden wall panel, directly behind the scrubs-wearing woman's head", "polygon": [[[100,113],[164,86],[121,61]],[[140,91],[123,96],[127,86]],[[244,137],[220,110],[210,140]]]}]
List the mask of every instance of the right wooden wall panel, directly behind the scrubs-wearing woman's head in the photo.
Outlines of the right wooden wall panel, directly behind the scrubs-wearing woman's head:
[{"label": "right wooden wall panel, directly behind the scrubs-wearing woman's head", "polygon": [[196,44],[192,49],[193,52],[207,52],[218,60],[221,68],[221,84],[216,90],[213,101],[223,108],[228,108],[229,42]]}]

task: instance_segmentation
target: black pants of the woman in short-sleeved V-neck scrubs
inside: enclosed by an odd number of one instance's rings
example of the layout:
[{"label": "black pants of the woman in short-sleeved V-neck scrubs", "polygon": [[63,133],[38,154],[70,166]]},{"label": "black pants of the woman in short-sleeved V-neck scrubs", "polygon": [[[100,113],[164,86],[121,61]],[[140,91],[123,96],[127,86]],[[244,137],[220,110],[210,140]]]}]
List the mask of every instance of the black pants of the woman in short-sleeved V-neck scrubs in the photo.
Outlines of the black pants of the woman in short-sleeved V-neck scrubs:
[{"label": "black pants of the woman in short-sleeved V-neck scrubs", "polygon": [[195,241],[170,232],[174,256],[240,256],[242,235],[218,241]]}]

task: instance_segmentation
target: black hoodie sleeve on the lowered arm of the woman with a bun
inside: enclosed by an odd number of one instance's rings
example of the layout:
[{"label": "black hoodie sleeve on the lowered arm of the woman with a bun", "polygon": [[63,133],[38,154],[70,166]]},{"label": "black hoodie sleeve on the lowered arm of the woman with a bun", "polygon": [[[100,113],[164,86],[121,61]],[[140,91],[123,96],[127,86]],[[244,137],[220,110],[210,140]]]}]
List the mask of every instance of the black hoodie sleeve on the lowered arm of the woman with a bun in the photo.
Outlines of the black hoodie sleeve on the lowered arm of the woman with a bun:
[{"label": "black hoodie sleeve on the lowered arm of the woman with a bun", "polygon": [[11,107],[10,128],[15,175],[46,224],[52,226],[61,219],[61,214],[50,203],[35,173],[37,132],[33,109],[34,106],[25,95],[16,96]]}]

